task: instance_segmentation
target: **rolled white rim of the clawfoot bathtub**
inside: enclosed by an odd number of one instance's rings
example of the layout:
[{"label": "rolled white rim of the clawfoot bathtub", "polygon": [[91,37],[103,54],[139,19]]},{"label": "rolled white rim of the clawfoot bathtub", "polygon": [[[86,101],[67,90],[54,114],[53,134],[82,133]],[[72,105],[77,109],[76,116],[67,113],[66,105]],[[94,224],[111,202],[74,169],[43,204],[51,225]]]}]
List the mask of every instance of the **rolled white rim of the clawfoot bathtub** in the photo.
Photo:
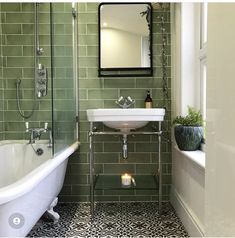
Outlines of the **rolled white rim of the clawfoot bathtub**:
[{"label": "rolled white rim of the clawfoot bathtub", "polygon": [[[5,144],[27,144],[24,140],[2,141],[1,145]],[[30,173],[8,186],[0,188],[0,205],[14,200],[37,186],[46,176],[48,176],[57,166],[67,159],[79,147],[80,142],[76,141],[65,150],[56,153],[51,159],[45,161]]]}]

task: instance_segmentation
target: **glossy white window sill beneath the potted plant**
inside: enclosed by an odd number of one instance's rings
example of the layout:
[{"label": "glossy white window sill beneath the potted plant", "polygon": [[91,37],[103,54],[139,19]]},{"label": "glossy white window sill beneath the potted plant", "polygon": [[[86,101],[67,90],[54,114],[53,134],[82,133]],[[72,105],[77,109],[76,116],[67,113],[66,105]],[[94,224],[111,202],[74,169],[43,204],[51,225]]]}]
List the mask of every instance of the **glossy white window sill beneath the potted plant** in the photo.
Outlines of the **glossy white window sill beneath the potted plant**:
[{"label": "glossy white window sill beneath the potted plant", "polygon": [[196,151],[184,151],[180,150],[177,145],[175,145],[175,149],[182,153],[184,156],[192,160],[194,163],[199,165],[201,168],[205,169],[206,166],[206,156],[205,152],[201,150],[196,150]]}]

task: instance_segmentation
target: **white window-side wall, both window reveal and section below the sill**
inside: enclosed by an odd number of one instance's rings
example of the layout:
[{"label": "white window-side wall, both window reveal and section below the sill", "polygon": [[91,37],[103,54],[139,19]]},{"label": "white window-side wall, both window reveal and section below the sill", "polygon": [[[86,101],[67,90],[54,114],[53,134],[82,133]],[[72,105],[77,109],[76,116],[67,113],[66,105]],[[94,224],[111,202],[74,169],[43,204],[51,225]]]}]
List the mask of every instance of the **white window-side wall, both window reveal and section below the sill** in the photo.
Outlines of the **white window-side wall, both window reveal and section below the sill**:
[{"label": "white window-side wall, both window reveal and section below the sill", "polygon": [[[172,4],[172,117],[199,108],[198,27],[195,3]],[[184,21],[185,20],[185,21]],[[191,42],[189,42],[191,41]],[[197,41],[197,42],[196,42]],[[200,95],[200,94],[199,94]],[[172,141],[174,133],[172,132]],[[205,169],[172,146],[171,203],[190,236],[204,235]]]}]

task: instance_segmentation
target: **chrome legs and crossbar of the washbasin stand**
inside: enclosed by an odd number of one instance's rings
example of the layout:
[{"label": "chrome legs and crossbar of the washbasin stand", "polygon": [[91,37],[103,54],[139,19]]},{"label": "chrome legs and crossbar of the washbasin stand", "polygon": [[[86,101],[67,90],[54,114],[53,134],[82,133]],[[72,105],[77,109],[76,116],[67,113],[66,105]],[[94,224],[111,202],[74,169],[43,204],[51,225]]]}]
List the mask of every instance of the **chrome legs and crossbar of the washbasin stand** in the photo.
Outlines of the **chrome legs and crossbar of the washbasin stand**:
[{"label": "chrome legs and crossbar of the washbasin stand", "polygon": [[[154,130],[156,130],[154,128]],[[89,135],[89,163],[90,163],[90,208],[91,208],[91,218],[94,217],[94,204],[95,204],[95,168],[94,168],[94,149],[93,149],[93,137],[102,135],[123,135],[125,133],[121,131],[97,131],[96,127],[93,126],[93,122],[90,122]],[[130,131],[128,135],[156,135],[158,136],[158,208],[159,214],[162,212],[162,160],[161,160],[161,122],[158,122],[158,131]]]}]

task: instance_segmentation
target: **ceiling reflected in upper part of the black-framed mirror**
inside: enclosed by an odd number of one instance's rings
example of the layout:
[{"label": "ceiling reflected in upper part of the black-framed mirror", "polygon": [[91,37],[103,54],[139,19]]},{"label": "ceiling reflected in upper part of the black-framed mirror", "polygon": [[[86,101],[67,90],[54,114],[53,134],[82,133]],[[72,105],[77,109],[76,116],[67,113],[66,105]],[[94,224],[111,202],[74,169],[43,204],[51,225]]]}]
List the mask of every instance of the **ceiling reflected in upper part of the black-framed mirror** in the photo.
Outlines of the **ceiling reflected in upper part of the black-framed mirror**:
[{"label": "ceiling reflected in upper part of the black-framed mirror", "polygon": [[148,36],[149,29],[146,15],[140,13],[147,10],[147,4],[104,4],[101,7],[100,24],[107,23],[107,28],[115,28]]}]

